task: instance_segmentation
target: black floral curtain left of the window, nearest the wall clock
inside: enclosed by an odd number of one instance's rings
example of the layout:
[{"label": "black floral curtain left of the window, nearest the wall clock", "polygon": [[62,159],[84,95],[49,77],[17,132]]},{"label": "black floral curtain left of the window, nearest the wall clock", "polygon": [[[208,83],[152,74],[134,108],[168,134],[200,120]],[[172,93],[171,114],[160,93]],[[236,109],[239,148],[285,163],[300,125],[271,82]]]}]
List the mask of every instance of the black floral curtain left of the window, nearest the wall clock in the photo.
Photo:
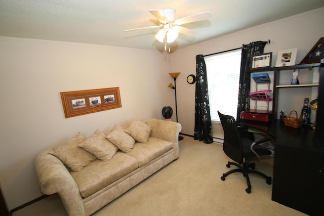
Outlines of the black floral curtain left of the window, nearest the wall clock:
[{"label": "black floral curtain left of the window, nearest the wall clock", "polygon": [[203,55],[196,56],[196,96],[194,139],[213,143],[213,129],[208,100],[206,64]]}]

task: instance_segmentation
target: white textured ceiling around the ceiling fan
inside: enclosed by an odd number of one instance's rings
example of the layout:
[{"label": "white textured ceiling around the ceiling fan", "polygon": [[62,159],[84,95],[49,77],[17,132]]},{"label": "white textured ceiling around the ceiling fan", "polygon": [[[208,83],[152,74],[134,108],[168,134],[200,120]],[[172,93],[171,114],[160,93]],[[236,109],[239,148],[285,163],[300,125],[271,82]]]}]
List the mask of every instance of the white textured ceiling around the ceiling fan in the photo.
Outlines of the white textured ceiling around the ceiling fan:
[{"label": "white textured ceiling around the ceiling fan", "polygon": [[176,19],[210,11],[212,18],[184,25],[171,49],[324,7],[323,0],[0,0],[0,36],[163,50],[149,9],[174,8]]}]

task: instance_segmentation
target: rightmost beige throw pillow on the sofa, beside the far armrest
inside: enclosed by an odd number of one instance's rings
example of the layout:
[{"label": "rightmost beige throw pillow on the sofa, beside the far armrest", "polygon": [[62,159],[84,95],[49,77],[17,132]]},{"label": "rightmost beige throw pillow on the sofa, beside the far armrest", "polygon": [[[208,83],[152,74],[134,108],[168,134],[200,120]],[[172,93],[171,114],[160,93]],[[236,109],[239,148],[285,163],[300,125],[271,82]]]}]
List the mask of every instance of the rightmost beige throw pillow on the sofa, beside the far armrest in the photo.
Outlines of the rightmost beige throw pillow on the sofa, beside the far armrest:
[{"label": "rightmost beige throw pillow on the sofa, beside the far armrest", "polygon": [[137,142],[147,143],[151,134],[151,127],[145,124],[143,121],[132,120],[125,132],[133,137]]}]

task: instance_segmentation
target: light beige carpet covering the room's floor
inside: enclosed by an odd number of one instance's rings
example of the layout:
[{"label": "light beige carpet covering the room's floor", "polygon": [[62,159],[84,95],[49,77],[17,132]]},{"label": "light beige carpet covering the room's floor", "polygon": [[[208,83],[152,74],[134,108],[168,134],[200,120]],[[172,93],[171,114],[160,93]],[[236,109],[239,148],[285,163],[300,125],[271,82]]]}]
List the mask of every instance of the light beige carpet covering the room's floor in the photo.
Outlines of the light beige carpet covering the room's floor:
[{"label": "light beige carpet covering the room's floor", "polygon": [[[230,168],[220,144],[204,144],[184,136],[180,157],[95,212],[107,215],[305,215],[271,200],[272,185],[251,174],[252,193],[240,173],[220,177]],[[273,157],[256,162],[256,169],[272,177]],[[231,166],[234,168],[234,166]],[[13,216],[66,215],[57,195],[15,211]]]}]

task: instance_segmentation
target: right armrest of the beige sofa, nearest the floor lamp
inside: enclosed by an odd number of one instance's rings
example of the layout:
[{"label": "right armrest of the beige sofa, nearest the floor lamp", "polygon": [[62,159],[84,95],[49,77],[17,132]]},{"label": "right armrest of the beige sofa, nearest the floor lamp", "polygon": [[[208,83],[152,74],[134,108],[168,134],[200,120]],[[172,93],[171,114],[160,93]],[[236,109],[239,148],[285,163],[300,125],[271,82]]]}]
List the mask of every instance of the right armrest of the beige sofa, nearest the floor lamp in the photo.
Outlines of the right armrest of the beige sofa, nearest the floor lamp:
[{"label": "right armrest of the beige sofa, nearest the floor lamp", "polygon": [[174,159],[179,157],[179,133],[181,132],[181,124],[174,121],[166,121],[154,118],[143,120],[147,125],[152,128],[151,137],[173,143]]}]

